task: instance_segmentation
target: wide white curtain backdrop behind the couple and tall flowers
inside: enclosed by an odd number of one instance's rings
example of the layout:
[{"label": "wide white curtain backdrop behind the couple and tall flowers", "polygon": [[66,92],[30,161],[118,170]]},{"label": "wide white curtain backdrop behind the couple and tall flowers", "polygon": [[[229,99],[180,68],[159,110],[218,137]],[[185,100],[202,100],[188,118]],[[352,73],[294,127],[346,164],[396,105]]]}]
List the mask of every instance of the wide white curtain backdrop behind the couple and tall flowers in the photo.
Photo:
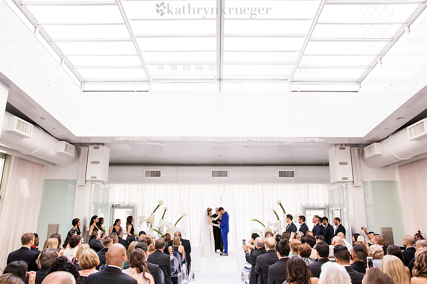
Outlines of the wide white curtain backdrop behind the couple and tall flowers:
[{"label": "wide white curtain backdrop behind the couple and tall flowers", "polygon": [[[242,239],[249,240],[254,228],[262,228],[258,222],[251,222],[254,217],[264,225],[276,222],[271,211],[275,208],[280,220],[283,212],[277,204],[282,201],[286,213],[299,215],[303,206],[327,205],[326,184],[286,184],[286,185],[142,185],[113,184],[111,186],[111,204],[136,205],[137,217],[148,216],[157,206],[159,200],[164,205],[155,213],[156,223],[163,214],[163,207],[168,207],[165,221],[172,222],[185,213],[177,224],[184,230],[184,238],[192,246],[198,246],[202,213],[207,207],[224,207],[230,214],[229,250],[241,246]],[[134,216],[135,217],[135,216]],[[311,221],[307,221],[310,225]],[[135,229],[147,231],[147,226],[138,227],[135,217]]]}]

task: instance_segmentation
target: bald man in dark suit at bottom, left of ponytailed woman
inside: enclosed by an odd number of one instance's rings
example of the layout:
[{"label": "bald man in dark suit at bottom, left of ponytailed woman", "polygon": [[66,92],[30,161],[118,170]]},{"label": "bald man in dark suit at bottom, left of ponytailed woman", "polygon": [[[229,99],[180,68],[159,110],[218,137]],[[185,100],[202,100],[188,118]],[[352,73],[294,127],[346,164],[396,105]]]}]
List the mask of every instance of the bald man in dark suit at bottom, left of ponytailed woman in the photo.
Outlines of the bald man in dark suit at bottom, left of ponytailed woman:
[{"label": "bald man in dark suit at bottom, left of ponytailed woman", "polygon": [[120,243],[111,245],[106,253],[106,258],[108,266],[87,276],[85,284],[138,283],[137,280],[122,272],[123,263],[126,260],[126,248],[123,245]]}]

